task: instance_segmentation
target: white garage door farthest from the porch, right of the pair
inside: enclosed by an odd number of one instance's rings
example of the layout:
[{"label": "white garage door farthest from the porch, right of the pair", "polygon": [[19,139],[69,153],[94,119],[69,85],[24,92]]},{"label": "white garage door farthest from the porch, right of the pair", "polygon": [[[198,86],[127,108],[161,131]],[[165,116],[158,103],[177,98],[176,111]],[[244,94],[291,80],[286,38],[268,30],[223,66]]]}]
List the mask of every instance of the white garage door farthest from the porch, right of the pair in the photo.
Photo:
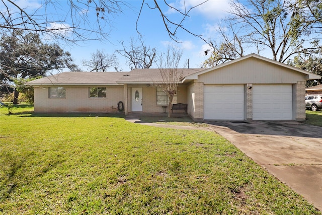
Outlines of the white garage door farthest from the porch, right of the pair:
[{"label": "white garage door farthest from the porch, right of the pair", "polygon": [[291,120],[292,85],[253,85],[253,119]]}]

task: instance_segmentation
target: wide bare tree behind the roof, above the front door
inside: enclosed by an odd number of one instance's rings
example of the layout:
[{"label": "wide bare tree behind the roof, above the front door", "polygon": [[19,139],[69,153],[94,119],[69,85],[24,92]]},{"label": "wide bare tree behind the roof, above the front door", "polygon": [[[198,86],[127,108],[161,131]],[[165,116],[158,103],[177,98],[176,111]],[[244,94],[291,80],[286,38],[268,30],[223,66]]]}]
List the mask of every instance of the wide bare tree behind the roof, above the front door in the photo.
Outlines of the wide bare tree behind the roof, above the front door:
[{"label": "wide bare tree behind the roof, above the front door", "polygon": [[155,62],[155,48],[146,46],[141,37],[139,38],[139,41],[135,41],[131,38],[128,46],[124,44],[124,41],[122,41],[121,44],[123,49],[116,51],[126,58],[126,63],[130,68],[149,68],[152,63]]}]

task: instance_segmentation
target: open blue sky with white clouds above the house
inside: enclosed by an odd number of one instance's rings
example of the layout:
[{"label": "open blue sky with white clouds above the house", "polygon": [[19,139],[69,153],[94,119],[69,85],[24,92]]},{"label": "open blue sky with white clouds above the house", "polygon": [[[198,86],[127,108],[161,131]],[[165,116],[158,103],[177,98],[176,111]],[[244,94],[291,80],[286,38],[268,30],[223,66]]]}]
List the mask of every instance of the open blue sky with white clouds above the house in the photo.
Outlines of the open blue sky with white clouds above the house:
[{"label": "open blue sky with white clouds above the house", "polygon": [[[159,1],[160,6],[163,1]],[[183,9],[183,4],[186,4],[186,8],[190,8],[200,4],[203,1],[198,0],[186,0],[186,1],[168,1],[173,6],[178,9]],[[36,11],[41,4],[42,1],[38,0],[24,0],[24,1],[16,1],[22,8],[26,8],[29,11]],[[53,19],[61,19],[64,13],[63,11],[67,8],[66,6],[68,2],[65,0],[60,1],[61,11],[50,11],[52,12]],[[108,40],[105,41],[86,41],[80,42],[76,45],[61,45],[61,47],[65,51],[69,51],[75,61],[75,63],[81,67],[84,71],[88,70],[86,67],[82,65],[82,60],[89,60],[91,57],[91,53],[95,52],[97,49],[103,50],[105,53],[112,54],[115,53],[116,49],[121,49],[120,41],[124,41],[125,44],[129,43],[131,37],[134,39],[138,38],[138,34],[136,32],[135,23],[138,17],[139,9],[141,7],[142,1],[126,1],[130,7],[123,7],[123,13],[118,16],[109,17],[111,20],[111,26],[106,26],[104,31],[109,32],[110,36]],[[151,0],[146,0],[145,3],[153,6],[153,2]],[[1,7],[0,3],[0,7]],[[215,29],[218,26],[218,22],[220,18],[225,16],[225,11],[228,11],[228,0],[209,0],[208,2],[198,6],[190,12],[190,17],[185,20],[183,23],[184,27],[189,31],[202,35],[203,38],[214,39]],[[38,10],[37,13],[41,14],[42,9]],[[163,8],[166,15],[171,20],[179,20],[180,17],[178,13],[169,10],[169,8]],[[91,13],[95,13],[93,11],[88,12],[89,15]],[[94,16],[95,17],[95,16]],[[93,23],[95,20],[93,20]],[[64,25],[71,25],[70,17],[66,17],[66,21]],[[138,21],[138,30],[141,35],[143,35],[143,41],[147,46],[155,47],[157,52],[165,52],[169,43],[174,43],[179,48],[183,49],[183,61],[189,59],[190,67],[200,67],[202,61],[206,59],[204,56],[204,51],[208,49],[208,45],[198,37],[195,37],[187,32],[179,31],[177,34],[178,40],[181,43],[175,43],[170,39],[165,26],[162,22],[162,19],[159,13],[156,10],[149,9],[146,5],[144,5],[141,16]],[[54,41],[53,41],[54,42]],[[117,55],[119,59],[119,68],[123,71],[128,71],[130,68],[126,65],[126,59],[120,55]],[[184,62],[182,62],[182,65]],[[154,64],[152,67],[157,67]],[[111,68],[111,71],[114,71]]]}]

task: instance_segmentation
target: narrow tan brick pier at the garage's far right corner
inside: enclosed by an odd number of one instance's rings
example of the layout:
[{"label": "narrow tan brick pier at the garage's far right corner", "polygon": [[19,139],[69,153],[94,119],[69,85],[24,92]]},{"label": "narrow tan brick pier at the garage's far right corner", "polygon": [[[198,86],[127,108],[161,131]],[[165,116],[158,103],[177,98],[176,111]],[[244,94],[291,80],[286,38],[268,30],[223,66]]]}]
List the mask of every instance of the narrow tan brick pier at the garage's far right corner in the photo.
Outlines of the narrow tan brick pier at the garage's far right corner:
[{"label": "narrow tan brick pier at the garage's far right corner", "polygon": [[296,84],[295,120],[305,120],[305,81]]}]

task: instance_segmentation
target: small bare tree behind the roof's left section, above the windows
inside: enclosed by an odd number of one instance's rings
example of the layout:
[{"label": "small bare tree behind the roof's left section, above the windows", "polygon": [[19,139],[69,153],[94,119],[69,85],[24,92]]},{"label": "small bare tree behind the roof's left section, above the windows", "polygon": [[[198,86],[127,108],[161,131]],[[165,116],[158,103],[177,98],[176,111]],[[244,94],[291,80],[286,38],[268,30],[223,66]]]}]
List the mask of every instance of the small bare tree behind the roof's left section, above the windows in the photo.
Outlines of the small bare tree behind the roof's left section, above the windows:
[{"label": "small bare tree behind the roof's left section, above the windows", "polygon": [[91,54],[90,60],[83,60],[83,65],[87,66],[90,71],[107,71],[108,68],[114,67],[117,70],[118,60],[116,55],[104,53],[103,50],[96,50]]}]

